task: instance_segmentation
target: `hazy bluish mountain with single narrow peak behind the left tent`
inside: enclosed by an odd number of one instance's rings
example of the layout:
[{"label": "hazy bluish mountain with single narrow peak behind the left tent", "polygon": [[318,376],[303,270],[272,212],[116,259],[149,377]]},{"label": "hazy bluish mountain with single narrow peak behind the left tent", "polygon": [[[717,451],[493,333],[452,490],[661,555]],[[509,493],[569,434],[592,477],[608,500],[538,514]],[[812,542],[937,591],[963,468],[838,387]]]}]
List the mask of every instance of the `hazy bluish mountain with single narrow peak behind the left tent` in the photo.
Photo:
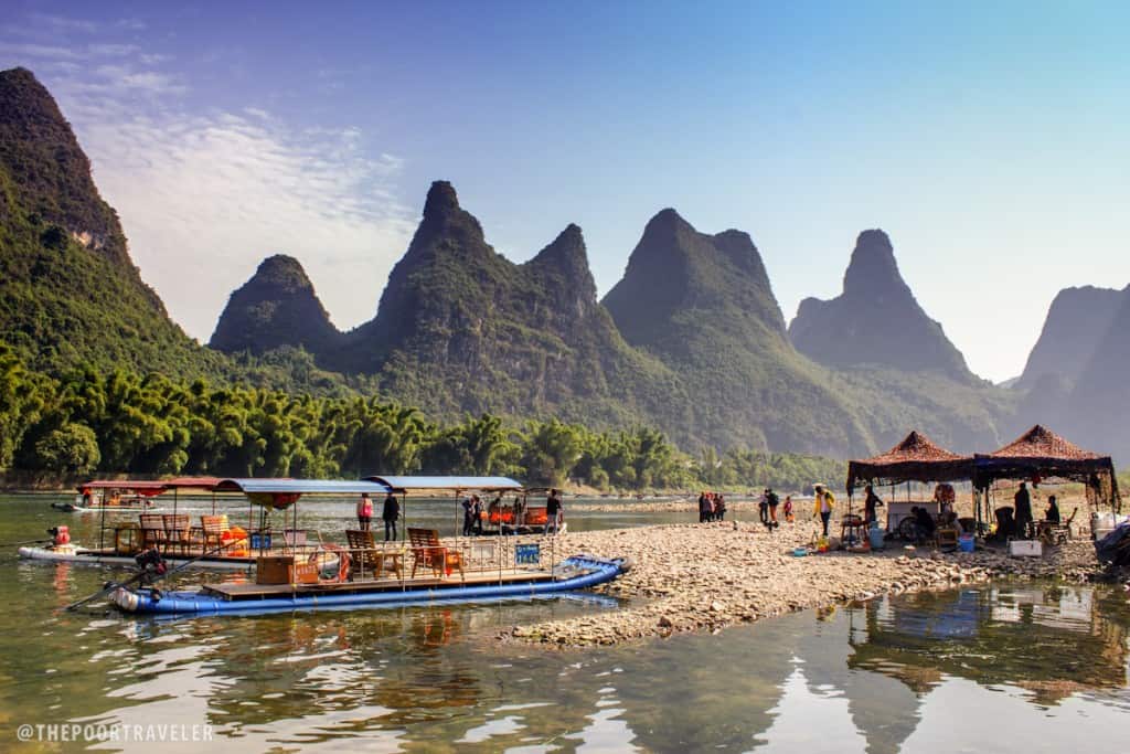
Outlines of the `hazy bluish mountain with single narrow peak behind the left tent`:
[{"label": "hazy bluish mountain with single narrow peak behind the left tent", "polygon": [[789,336],[798,350],[827,366],[876,365],[979,382],[941,324],[914,298],[890,239],[879,229],[859,234],[843,293],[800,302]]}]

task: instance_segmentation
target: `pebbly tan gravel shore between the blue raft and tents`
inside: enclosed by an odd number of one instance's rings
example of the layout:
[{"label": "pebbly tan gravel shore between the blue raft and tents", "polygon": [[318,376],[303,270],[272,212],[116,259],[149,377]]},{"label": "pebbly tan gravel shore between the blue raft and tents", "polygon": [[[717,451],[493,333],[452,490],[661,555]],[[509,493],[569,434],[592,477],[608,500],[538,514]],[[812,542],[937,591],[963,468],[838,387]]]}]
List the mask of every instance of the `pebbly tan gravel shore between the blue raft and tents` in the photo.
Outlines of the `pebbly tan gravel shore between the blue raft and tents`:
[{"label": "pebbly tan gravel shore between the blue raft and tents", "polygon": [[1014,558],[999,549],[942,554],[901,544],[877,553],[833,552],[796,557],[815,522],[782,525],[694,523],[562,535],[557,553],[631,557],[626,575],[598,591],[631,599],[617,610],[567,621],[515,626],[511,642],[560,648],[615,644],[681,632],[718,632],[738,623],[878,595],[945,589],[994,578],[1046,578],[1074,582],[1102,569],[1089,539],[1045,548],[1042,558]]}]

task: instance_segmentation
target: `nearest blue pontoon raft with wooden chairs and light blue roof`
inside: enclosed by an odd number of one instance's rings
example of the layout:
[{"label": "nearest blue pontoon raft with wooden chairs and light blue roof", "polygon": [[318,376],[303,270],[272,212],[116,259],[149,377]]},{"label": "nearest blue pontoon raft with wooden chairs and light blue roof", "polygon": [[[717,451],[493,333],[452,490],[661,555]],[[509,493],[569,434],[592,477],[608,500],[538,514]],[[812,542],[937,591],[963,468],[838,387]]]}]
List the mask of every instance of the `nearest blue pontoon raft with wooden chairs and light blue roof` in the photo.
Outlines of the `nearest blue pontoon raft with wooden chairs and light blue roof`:
[{"label": "nearest blue pontoon raft with wooden chairs and light blue roof", "polygon": [[[372,486],[372,488],[370,488]],[[225,479],[219,489],[240,491],[255,503],[285,510],[314,493],[368,492],[380,511],[388,495],[408,491],[520,491],[505,477],[368,477],[360,483],[316,479]],[[365,489],[362,489],[365,487]],[[380,494],[380,496],[376,496]],[[392,607],[406,604],[529,599],[589,589],[631,569],[625,558],[573,555],[555,562],[549,540],[515,537],[454,538],[407,530],[409,541],[375,543],[370,531],[347,531],[349,546],[327,574],[324,552],[260,557],[254,583],[202,584],[189,591],[155,587],[115,589],[110,600],[127,613],[155,615],[247,615],[315,609]],[[548,552],[546,552],[548,549]]]}]

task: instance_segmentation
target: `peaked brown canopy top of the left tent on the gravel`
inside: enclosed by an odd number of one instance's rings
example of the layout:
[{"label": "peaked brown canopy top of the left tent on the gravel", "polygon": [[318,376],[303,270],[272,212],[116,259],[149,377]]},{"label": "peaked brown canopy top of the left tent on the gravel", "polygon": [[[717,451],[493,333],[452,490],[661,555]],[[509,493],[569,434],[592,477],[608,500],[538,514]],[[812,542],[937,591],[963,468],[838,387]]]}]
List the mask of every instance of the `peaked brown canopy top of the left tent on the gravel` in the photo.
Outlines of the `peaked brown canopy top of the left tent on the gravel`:
[{"label": "peaked brown canopy top of the left tent on the gravel", "polygon": [[957,482],[973,477],[973,458],[939,447],[921,432],[911,432],[885,453],[847,462],[847,494],[864,484]]}]

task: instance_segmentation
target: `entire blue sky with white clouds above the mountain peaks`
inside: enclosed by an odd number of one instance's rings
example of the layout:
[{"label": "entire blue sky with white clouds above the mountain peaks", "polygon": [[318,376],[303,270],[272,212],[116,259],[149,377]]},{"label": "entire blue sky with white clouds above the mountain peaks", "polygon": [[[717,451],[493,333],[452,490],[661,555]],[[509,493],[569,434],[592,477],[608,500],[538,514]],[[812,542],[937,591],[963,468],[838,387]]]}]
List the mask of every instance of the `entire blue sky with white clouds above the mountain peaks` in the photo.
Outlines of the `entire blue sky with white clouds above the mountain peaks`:
[{"label": "entire blue sky with white clouds above the mountain peaks", "polygon": [[142,276],[206,340],[262,257],[370,319],[431,181],[601,293],[646,220],[758,245],[785,318],[886,229],[990,379],[1069,285],[1130,283],[1125,3],[6,0],[0,67],[60,101]]}]

